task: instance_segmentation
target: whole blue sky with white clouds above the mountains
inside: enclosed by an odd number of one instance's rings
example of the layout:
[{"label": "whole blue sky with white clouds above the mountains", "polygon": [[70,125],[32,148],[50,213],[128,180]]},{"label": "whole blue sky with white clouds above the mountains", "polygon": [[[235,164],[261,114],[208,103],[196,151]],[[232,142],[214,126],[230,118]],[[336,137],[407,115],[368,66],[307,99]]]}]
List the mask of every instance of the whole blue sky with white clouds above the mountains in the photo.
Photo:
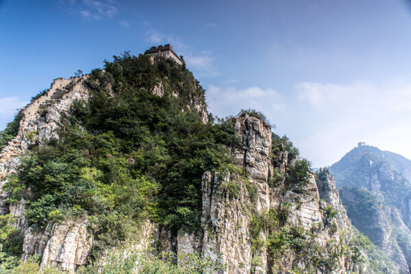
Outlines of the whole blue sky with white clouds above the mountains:
[{"label": "whole blue sky with white clouds above the mountains", "polygon": [[167,43],[212,114],[264,112],[313,166],[360,141],[411,158],[405,0],[0,0],[0,129],[54,78]]}]

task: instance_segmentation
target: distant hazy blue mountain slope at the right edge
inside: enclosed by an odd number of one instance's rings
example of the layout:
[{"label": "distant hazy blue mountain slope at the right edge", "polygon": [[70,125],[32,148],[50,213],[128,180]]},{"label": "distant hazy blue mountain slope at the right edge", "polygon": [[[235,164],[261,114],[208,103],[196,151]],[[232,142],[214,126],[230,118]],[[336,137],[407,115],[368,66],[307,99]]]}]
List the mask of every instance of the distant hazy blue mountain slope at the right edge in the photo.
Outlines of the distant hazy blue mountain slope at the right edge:
[{"label": "distant hazy blue mountain slope at the right edge", "polygon": [[[360,232],[381,247],[402,271],[411,271],[411,161],[361,146],[329,167],[336,176],[347,214]],[[403,174],[404,173],[404,174]]]}]

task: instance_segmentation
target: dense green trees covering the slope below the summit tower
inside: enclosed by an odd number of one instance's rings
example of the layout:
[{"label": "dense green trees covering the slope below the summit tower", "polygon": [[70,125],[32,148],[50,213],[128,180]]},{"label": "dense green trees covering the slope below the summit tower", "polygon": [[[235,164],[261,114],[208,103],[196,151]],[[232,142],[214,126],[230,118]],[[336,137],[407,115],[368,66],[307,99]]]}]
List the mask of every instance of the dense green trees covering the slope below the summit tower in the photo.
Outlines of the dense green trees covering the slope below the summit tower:
[{"label": "dense green trees covering the slope below the summit tower", "polygon": [[[150,92],[159,82],[162,97]],[[198,227],[201,175],[232,163],[234,127],[202,123],[193,104],[204,90],[170,59],[114,56],[88,86],[92,98],[73,104],[60,139],[22,159],[5,186],[9,201],[25,197],[38,229],[87,218],[96,248],[136,238],[147,218],[173,233]]]}]

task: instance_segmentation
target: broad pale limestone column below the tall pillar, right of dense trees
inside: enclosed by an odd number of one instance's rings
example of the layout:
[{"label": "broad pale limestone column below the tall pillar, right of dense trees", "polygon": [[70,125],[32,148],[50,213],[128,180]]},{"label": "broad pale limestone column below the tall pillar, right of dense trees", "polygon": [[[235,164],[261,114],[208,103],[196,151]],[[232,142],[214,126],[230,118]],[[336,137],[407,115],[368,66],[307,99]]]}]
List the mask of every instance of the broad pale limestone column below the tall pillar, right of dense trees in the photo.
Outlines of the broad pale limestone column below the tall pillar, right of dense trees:
[{"label": "broad pale limestone column below the tall pillar, right of dense trees", "polygon": [[[238,182],[237,197],[229,197],[225,182]],[[202,251],[212,258],[227,264],[227,272],[249,273],[251,245],[249,224],[251,199],[244,182],[232,175],[222,178],[206,172],[203,175],[203,231]]]}]

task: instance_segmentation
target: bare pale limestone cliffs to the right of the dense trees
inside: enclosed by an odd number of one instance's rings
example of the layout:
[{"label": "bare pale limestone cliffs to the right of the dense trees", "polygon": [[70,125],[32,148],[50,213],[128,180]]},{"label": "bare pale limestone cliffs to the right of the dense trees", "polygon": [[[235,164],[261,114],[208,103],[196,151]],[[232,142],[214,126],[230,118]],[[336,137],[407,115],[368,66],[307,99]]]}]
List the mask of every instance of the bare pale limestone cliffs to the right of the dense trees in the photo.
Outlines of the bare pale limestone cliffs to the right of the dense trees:
[{"label": "bare pale limestone cliffs to the right of the dense trees", "polygon": [[[341,223],[329,221],[325,216],[327,204],[320,200],[322,195],[327,197],[328,203],[334,205],[336,210],[343,208],[332,177],[329,177],[327,186],[320,193],[312,173],[308,183],[302,190],[298,188],[298,192],[294,192],[292,186],[288,186],[289,189],[286,190],[284,178],[279,187],[269,186],[269,177],[273,172],[270,158],[271,129],[260,119],[248,115],[238,117],[233,123],[242,143],[242,147],[236,150],[237,164],[245,170],[248,183],[245,178],[235,174],[204,173],[201,183],[202,229],[196,233],[181,229],[177,236],[173,236],[172,232],[157,230],[152,237],[162,239],[162,250],[175,250],[177,254],[194,251],[204,253],[212,260],[227,265],[225,271],[216,271],[216,274],[267,273],[271,269],[270,255],[264,248],[253,249],[250,227],[253,216],[269,212],[271,208],[277,212],[288,210],[288,225],[301,224],[306,229],[311,229],[313,225],[321,227],[325,224],[325,227],[316,232],[316,243],[320,246],[327,245],[329,240],[338,242],[338,233],[331,232],[329,227],[335,223],[343,229],[346,226],[345,211],[341,212]],[[277,155],[279,161],[276,168],[284,174],[290,163],[286,151],[280,154]],[[229,182],[238,186],[239,191],[235,197],[230,197],[227,190]],[[250,190],[255,193],[251,195]],[[262,240],[267,240],[267,233],[260,234]],[[281,264],[285,268],[292,267],[296,264],[295,260],[295,254],[284,254]],[[355,267],[344,258],[338,260],[336,273],[349,273]],[[303,262],[297,264],[303,267]]]}]

